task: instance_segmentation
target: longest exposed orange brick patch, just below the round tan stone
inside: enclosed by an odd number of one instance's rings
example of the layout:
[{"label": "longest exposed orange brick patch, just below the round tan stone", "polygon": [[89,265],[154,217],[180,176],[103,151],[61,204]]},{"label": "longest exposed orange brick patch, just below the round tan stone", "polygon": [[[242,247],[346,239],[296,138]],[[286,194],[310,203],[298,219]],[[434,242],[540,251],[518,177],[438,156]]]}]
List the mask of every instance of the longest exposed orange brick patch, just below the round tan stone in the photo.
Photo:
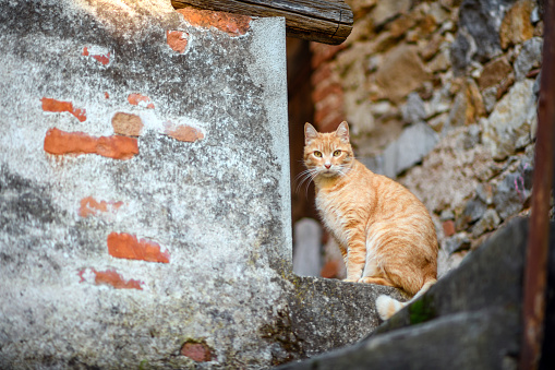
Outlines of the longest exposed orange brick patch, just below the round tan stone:
[{"label": "longest exposed orange brick patch, just below the round tan stone", "polygon": [[45,152],[53,155],[98,154],[113,159],[130,159],[138,154],[138,145],[135,138],[95,138],[83,132],[65,132],[55,128],[46,133]]}]

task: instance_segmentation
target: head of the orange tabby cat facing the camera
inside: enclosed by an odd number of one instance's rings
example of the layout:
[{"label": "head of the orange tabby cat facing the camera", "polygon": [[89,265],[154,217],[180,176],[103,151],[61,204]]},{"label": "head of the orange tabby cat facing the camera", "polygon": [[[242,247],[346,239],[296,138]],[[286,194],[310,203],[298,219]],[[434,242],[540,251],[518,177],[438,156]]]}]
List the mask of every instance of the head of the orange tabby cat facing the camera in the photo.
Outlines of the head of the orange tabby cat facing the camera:
[{"label": "head of the orange tabby cat facing the camera", "polygon": [[304,165],[312,171],[313,178],[346,175],[352,159],[349,126],[346,121],[329,133],[317,132],[312,124],[304,124]]}]

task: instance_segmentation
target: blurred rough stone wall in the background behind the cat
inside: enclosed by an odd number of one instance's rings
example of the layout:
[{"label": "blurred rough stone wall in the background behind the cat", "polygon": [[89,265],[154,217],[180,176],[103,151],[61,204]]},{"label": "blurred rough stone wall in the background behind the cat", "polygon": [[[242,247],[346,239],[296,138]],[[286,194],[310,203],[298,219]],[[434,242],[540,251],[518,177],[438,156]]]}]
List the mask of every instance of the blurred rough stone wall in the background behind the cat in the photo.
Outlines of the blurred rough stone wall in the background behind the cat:
[{"label": "blurred rough stone wall in the background behind the cat", "polygon": [[340,46],[313,44],[315,123],[432,213],[439,273],[528,212],[543,23],[536,1],[350,0]]}]

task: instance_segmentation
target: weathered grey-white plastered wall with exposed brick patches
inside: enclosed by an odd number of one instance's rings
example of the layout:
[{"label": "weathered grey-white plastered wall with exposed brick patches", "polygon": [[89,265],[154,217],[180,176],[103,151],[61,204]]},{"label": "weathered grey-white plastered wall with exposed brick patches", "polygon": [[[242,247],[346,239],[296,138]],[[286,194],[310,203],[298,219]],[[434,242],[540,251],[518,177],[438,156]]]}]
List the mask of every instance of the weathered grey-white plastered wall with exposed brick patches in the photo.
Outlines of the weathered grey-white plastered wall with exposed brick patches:
[{"label": "weathered grey-white plastered wall with exposed brick patches", "polygon": [[377,325],[394,289],[291,273],[285,22],[248,24],[0,1],[0,368],[265,368]]}]

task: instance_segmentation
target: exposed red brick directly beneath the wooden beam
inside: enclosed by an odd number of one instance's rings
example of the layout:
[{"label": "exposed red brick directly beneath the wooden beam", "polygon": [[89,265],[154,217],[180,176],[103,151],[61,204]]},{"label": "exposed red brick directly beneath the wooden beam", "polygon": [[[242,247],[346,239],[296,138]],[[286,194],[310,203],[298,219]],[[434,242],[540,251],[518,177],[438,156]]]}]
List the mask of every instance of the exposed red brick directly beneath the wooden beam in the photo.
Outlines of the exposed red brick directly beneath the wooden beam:
[{"label": "exposed red brick directly beneath the wooden beam", "polygon": [[251,27],[251,17],[248,15],[215,12],[212,10],[200,10],[194,8],[178,9],[189,24],[195,27],[215,27],[230,36],[246,34]]}]

